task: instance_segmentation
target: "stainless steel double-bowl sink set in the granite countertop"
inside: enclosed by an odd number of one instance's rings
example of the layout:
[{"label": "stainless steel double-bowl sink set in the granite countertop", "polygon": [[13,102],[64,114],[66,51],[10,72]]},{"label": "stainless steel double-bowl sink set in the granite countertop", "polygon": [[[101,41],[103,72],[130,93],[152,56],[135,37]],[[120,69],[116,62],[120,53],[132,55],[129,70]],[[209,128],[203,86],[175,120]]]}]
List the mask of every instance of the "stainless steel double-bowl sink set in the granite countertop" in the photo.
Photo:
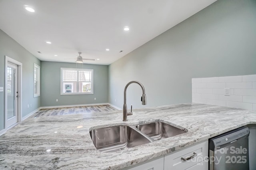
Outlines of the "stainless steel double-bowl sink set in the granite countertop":
[{"label": "stainless steel double-bowl sink set in the granite countertop", "polygon": [[162,120],[156,120],[131,126],[120,125],[97,128],[90,130],[90,136],[98,151],[115,152],[186,132],[186,129],[182,130]]}]

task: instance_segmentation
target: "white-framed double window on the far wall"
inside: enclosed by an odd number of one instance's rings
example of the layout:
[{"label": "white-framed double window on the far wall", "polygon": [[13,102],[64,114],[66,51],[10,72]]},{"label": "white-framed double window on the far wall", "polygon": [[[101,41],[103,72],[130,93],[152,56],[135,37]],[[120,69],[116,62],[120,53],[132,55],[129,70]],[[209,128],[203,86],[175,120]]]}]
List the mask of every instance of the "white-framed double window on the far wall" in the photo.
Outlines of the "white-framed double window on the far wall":
[{"label": "white-framed double window on the far wall", "polygon": [[93,70],[61,68],[61,93],[93,94]]}]

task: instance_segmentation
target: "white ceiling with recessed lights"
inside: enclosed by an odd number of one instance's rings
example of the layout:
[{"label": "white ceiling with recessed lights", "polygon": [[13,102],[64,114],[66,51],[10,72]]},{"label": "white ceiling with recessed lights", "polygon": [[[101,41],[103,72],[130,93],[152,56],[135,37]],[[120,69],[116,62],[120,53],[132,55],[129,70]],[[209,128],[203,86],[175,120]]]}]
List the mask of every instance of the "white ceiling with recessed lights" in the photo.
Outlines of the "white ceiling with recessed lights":
[{"label": "white ceiling with recessed lights", "polygon": [[0,0],[0,29],[42,61],[108,65],[215,1]]}]

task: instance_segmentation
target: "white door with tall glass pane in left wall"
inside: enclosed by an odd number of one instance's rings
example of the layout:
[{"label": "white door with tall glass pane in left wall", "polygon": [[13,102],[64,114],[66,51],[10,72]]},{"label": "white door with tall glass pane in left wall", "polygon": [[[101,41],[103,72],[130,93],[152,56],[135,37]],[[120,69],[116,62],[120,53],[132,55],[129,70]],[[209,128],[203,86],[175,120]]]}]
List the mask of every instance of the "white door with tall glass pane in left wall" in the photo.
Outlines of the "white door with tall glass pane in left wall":
[{"label": "white door with tall glass pane in left wall", "polygon": [[18,65],[7,63],[6,68],[6,128],[18,122]]}]

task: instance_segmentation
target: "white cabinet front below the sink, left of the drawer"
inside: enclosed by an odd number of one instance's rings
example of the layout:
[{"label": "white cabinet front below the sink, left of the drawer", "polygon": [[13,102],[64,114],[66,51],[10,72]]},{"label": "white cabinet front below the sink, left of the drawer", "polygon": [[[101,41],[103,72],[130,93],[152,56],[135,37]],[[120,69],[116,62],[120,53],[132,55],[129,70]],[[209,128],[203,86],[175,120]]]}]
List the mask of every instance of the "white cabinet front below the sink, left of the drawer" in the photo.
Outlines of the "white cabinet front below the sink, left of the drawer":
[{"label": "white cabinet front below the sink, left of the drawer", "polygon": [[135,165],[133,168],[124,168],[123,170],[164,170],[164,156]]}]

